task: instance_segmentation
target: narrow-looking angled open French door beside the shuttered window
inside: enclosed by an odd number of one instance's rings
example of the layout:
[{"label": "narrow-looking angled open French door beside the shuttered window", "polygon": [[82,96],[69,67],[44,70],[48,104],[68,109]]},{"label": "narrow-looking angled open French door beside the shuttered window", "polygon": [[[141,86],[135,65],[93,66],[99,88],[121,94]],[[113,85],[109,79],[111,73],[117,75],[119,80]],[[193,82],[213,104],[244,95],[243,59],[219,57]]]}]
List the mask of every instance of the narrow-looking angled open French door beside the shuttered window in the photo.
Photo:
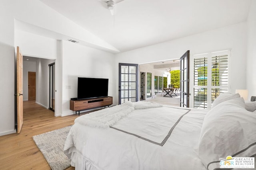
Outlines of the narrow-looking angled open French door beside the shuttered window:
[{"label": "narrow-looking angled open French door beside the shuttered window", "polygon": [[180,107],[189,107],[189,50],[180,57]]}]

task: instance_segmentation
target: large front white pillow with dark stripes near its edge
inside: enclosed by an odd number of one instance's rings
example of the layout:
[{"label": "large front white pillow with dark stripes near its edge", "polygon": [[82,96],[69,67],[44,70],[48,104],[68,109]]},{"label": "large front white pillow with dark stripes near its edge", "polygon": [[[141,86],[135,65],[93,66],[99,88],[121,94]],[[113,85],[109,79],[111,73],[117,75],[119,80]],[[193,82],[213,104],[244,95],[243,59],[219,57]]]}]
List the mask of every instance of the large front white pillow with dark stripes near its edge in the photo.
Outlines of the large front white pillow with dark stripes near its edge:
[{"label": "large front white pillow with dark stripes near its edge", "polygon": [[219,158],[256,154],[256,114],[244,107],[243,98],[234,98],[222,102],[206,114],[198,156],[208,170],[220,168]]}]

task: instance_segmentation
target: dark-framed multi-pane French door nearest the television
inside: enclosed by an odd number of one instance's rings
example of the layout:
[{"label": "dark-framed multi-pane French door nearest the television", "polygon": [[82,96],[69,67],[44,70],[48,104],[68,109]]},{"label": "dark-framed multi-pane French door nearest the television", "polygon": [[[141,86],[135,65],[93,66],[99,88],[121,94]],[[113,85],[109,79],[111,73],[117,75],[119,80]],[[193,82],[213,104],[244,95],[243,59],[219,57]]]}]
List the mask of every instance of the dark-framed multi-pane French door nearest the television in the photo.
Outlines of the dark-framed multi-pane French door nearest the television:
[{"label": "dark-framed multi-pane French door nearest the television", "polygon": [[119,63],[118,103],[138,102],[138,64]]}]

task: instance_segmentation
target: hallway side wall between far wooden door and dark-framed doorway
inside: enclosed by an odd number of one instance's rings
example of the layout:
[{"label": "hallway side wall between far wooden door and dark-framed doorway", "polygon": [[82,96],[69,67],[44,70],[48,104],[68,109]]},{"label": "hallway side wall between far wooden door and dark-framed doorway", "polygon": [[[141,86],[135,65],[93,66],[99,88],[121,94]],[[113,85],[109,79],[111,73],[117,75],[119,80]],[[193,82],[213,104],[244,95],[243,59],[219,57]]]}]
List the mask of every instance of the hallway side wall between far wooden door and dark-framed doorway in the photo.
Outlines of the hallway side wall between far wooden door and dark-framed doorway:
[{"label": "hallway side wall between far wooden door and dark-framed doorway", "polygon": [[49,67],[54,60],[37,59],[36,61],[36,103],[48,109],[49,105]]}]

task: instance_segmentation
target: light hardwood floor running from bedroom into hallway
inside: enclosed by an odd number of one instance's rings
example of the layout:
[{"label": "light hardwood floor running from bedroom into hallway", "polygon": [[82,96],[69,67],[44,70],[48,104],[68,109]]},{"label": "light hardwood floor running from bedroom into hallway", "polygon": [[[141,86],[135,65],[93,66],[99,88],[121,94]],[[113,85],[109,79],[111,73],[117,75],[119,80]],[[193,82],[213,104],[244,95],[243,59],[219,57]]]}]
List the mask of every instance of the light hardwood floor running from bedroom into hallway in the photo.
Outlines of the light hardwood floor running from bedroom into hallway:
[{"label": "light hardwood floor running from bedroom into hallway", "polygon": [[0,170],[50,170],[32,136],[73,125],[76,117],[78,115],[54,117],[53,111],[35,101],[24,102],[21,133],[0,136]]}]

